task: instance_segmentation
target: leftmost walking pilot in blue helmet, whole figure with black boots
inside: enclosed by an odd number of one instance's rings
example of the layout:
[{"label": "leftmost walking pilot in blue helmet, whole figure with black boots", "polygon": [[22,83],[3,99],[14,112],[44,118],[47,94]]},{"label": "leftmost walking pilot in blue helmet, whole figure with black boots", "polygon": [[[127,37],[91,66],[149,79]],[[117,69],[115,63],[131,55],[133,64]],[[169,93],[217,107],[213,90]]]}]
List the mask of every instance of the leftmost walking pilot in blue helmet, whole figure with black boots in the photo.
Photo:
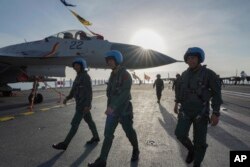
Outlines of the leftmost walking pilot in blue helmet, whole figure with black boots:
[{"label": "leftmost walking pilot in blue helmet, whole figure with black boots", "polygon": [[92,132],[93,137],[87,141],[86,144],[97,143],[100,141],[99,135],[96,129],[96,125],[92,119],[90,109],[92,101],[92,85],[90,76],[87,73],[87,63],[82,58],[76,58],[72,66],[77,72],[77,76],[73,82],[73,86],[69,95],[64,99],[63,104],[71,98],[75,98],[76,108],[75,115],[71,121],[71,129],[63,142],[53,144],[52,147],[58,150],[66,150],[70,141],[76,134],[82,118],[88,124],[89,129]]}]

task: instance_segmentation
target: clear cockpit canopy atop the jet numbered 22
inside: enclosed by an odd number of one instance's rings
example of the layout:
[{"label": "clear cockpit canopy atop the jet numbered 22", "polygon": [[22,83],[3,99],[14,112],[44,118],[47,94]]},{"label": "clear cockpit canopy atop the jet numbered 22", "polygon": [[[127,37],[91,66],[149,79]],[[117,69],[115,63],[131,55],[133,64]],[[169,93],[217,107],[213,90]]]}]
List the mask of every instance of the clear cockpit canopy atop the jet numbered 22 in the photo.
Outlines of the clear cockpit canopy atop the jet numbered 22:
[{"label": "clear cockpit canopy atop the jet numbered 22", "polygon": [[55,35],[51,35],[48,38],[61,38],[61,39],[78,39],[78,40],[91,40],[91,39],[102,39],[103,36],[101,35],[91,35],[89,33],[86,33],[83,30],[69,30],[69,31],[63,31],[59,32]]}]

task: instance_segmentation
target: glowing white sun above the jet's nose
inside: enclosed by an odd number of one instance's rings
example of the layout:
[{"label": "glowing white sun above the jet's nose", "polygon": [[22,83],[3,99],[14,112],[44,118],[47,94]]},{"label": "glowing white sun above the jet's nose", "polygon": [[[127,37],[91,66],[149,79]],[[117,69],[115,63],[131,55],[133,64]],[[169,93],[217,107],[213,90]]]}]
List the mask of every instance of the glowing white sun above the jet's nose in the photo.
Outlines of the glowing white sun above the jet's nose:
[{"label": "glowing white sun above the jet's nose", "polygon": [[163,38],[155,31],[150,29],[141,29],[132,36],[131,44],[138,45],[144,49],[153,49],[159,52],[165,50]]}]

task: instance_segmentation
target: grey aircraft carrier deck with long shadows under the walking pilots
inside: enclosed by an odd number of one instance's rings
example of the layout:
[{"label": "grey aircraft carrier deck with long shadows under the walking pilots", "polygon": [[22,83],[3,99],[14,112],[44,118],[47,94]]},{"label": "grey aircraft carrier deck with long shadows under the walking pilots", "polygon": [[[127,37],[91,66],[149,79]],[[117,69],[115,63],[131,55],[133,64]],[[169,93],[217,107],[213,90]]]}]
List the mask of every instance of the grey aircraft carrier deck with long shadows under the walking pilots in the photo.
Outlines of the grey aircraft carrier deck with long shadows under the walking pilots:
[{"label": "grey aircraft carrier deck with long shadows under the walking pilots", "polygon": [[[101,141],[85,146],[91,138],[82,121],[66,151],[54,150],[53,143],[64,140],[75,111],[74,101],[64,106],[51,89],[41,90],[44,102],[29,110],[29,91],[0,98],[0,166],[77,167],[87,166],[99,155],[106,115],[106,86],[93,87],[92,116]],[[67,94],[69,88],[57,89]],[[223,88],[218,126],[208,128],[208,149],[203,167],[228,167],[230,150],[250,150],[250,86]],[[134,128],[137,131],[140,159],[131,163],[132,147],[119,125],[108,157],[109,167],[185,167],[186,149],[176,140],[174,92],[165,85],[161,104],[156,103],[152,85],[133,85]],[[190,133],[192,136],[192,133]]]}]

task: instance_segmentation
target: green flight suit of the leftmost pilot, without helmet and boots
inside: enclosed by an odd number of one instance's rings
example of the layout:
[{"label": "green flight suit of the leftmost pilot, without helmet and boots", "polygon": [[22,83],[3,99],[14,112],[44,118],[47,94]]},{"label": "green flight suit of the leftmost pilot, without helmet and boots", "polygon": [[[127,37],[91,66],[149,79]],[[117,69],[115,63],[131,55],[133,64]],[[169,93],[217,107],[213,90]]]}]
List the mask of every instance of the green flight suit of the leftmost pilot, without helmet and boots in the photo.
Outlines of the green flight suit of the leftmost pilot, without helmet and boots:
[{"label": "green flight suit of the leftmost pilot, without helmet and boots", "polygon": [[88,75],[86,71],[81,71],[77,73],[77,76],[73,82],[73,86],[70,90],[69,95],[66,97],[66,99],[69,100],[73,97],[75,98],[75,101],[76,101],[75,115],[71,121],[71,129],[64,140],[64,143],[66,145],[70,143],[70,141],[76,134],[82,118],[88,124],[93,137],[95,138],[99,137],[97,129],[96,129],[96,125],[92,119],[91,113],[83,112],[84,107],[91,108],[91,101],[92,101],[92,84],[91,84],[90,76]]}]

